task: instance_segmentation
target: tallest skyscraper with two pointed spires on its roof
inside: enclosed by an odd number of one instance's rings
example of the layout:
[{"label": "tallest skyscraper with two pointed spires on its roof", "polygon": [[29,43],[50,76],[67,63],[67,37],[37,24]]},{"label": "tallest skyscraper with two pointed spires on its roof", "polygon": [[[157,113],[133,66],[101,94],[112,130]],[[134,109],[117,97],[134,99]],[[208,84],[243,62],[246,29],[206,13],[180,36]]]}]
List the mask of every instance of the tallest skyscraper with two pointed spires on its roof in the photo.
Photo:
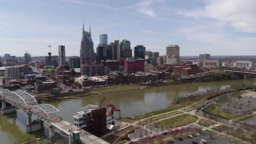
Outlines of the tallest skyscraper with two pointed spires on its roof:
[{"label": "tallest skyscraper with two pointed spires on its roof", "polygon": [[91,64],[94,59],[94,42],[91,38],[91,32],[85,31],[84,26],[82,26],[80,62],[81,64]]}]

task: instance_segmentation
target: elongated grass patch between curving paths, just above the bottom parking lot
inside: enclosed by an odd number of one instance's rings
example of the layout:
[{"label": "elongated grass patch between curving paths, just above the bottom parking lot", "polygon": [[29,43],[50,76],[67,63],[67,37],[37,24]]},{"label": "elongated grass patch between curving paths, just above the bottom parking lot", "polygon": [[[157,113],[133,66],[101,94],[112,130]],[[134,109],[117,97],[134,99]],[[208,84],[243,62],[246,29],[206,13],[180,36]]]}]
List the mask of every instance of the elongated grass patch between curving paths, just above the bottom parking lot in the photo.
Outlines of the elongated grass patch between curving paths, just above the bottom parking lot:
[{"label": "elongated grass patch between curving paths, just above the bottom parking lot", "polygon": [[174,118],[168,118],[166,120],[163,120],[162,122],[156,123],[156,127],[176,128],[180,126],[189,125],[190,123],[196,122],[197,120],[197,116],[191,114],[181,114]]}]

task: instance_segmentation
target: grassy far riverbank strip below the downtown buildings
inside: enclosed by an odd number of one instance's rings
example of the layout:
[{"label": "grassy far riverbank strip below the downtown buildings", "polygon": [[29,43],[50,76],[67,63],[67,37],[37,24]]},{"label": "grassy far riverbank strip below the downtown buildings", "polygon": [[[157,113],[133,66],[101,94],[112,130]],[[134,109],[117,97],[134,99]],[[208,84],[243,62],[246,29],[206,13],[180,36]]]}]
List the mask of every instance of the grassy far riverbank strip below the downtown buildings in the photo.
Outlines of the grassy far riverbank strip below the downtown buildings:
[{"label": "grassy far riverbank strip below the downtown buildings", "polygon": [[182,85],[186,83],[194,82],[218,82],[222,80],[237,80],[242,79],[241,74],[225,73],[222,71],[214,71],[208,74],[201,75],[196,78],[180,78],[176,81],[166,81],[166,82],[157,82],[150,85],[141,85],[141,84],[128,84],[128,85],[118,85],[118,86],[102,86],[91,88],[90,90],[85,90],[83,92],[67,92],[56,96],[50,93],[36,94],[35,97],[38,102],[58,102],[70,98],[80,98],[83,96],[88,96],[90,94],[110,94],[121,91],[132,91],[132,90],[142,90],[145,88],[152,88],[154,86],[169,86],[169,85]]}]

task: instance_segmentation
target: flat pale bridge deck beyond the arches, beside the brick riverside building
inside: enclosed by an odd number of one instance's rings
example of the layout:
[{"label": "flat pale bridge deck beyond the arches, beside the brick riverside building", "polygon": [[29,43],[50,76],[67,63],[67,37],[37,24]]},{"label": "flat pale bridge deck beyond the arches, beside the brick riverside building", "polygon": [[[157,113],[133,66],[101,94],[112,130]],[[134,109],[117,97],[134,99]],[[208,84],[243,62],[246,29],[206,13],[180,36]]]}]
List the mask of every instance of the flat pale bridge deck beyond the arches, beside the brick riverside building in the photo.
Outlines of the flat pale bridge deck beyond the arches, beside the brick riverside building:
[{"label": "flat pale bridge deck beyond the arches, beside the brick riverside building", "polygon": [[70,122],[59,121],[59,122],[54,122],[54,125],[61,127],[63,130],[68,131],[70,134],[72,134],[74,130],[79,131],[80,139],[82,140],[82,142],[95,143],[95,144],[109,143],[102,140],[101,138],[96,137],[93,134],[86,132],[85,130],[79,129],[77,126],[74,126],[74,124]]}]

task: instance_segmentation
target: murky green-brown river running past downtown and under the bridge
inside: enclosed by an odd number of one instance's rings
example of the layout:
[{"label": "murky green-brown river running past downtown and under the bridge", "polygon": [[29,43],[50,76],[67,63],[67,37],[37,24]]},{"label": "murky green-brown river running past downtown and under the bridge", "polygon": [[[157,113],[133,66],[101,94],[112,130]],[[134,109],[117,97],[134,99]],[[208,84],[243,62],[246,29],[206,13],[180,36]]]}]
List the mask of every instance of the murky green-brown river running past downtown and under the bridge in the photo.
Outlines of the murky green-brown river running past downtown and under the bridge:
[{"label": "murky green-brown river running past downtown and under the bridge", "polygon": [[[103,102],[103,106],[106,106],[107,103],[113,103],[121,110],[122,117],[132,117],[152,110],[164,109],[171,105],[175,97],[183,96],[184,94],[196,93],[211,88],[225,89],[227,86],[241,84],[243,82],[243,80],[235,80],[159,86],[144,90],[94,94],[83,98],[54,102],[52,104],[61,110],[62,118],[73,122],[72,116],[76,114],[82,106],[88,104],[99,105],[102,96],[106,96],[106,101]],[[256,79],[246,80],[246,83],[256,84]],[[18,110],[17,114],[0,115],[0,143],[21,143],[44,135],[48,135],[46,128],[34,134],[26,134],[26,114],[24,114],[22,110]]]}]

